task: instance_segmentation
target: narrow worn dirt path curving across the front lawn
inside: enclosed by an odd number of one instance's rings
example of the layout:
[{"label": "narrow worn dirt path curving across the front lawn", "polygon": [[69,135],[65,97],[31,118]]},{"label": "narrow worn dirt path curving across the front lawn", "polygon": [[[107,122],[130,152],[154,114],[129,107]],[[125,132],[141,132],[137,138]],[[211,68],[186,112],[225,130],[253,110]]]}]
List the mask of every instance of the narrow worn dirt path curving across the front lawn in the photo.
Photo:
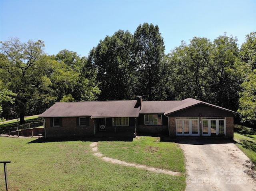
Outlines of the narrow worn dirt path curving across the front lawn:
[{"label": "narrow worn dirt path curving across the front lawn", "polygon": [[136,164],[136,163],[130,163],[130,162],[126,162],[126,161],[121,161],[118,159],[112,159],[110,157],[106,157],[104,156],[102,153],[98,152],[98,142],[93,142],[92,144],[90,144],[90,147],[92,149],[92,152],[94,153],[94,156],[97,156],[98,158],[101,158],[104,161],[113,163],[113,164],[120,164],[120,165],[124,165],[124,166],[131,166],[131,167],[136,167],[136,168],[140,168],[140,169],[145,169],[151,172],[155,172],[155,173],[163,173],[163,174],[168,174],[168,175],[174,175],[174,176],[181,176],[182,173],[180,172],[174,172],[174,171],[170,171],[170,170],[166,170],[166,169],[159,169],[159,168],[154,168],[154,167],[149,167],[146,165],[140,165],[140,164]]}]

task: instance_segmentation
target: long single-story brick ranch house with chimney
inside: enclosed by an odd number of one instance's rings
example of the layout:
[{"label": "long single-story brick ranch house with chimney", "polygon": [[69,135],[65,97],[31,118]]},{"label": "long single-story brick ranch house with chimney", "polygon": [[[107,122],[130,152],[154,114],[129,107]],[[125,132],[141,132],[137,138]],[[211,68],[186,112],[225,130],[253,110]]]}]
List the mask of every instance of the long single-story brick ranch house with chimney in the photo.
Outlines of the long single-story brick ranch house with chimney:
[{"label": "long single-story brick ranch house with chimney", "polygon": [[226,136],[233,139],[232,110],[196,99],[57,102],[44,118],[46,137]]}]

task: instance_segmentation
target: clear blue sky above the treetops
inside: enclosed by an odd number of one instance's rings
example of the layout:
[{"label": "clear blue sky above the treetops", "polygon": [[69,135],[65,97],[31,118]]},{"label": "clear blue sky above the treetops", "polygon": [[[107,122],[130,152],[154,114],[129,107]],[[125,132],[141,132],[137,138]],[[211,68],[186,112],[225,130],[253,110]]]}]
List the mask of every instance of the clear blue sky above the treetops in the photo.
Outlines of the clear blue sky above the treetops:
[{"label": "clear blue sky above the treetops", "polygon": [[245,35],[256,31],[256,0],[0,0],[0,40],[41,39],[45,52],[62,49],[88,56],[100,39],[118,30],[134,34],[145,22],[158,25],[165,53],[184,40],[233,35],[241,45]]}]

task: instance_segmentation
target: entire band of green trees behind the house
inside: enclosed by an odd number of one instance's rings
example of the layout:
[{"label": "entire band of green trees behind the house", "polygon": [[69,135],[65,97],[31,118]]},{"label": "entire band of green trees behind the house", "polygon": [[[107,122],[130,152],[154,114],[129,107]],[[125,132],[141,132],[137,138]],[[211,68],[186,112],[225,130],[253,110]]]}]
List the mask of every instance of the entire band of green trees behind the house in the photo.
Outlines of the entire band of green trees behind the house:
[{"label": "entire band of green trees behind the house", "polygon": [[193,37],[165,54],[160,29],[140,24],[101,39],[88,57],[63,49],[44,52],[44,42],[17,37],[0,46],[0,112],[44,112],[54,102],[182,100],[196,98],[256,122],[256,32],[239,49],[236,37]]}]

